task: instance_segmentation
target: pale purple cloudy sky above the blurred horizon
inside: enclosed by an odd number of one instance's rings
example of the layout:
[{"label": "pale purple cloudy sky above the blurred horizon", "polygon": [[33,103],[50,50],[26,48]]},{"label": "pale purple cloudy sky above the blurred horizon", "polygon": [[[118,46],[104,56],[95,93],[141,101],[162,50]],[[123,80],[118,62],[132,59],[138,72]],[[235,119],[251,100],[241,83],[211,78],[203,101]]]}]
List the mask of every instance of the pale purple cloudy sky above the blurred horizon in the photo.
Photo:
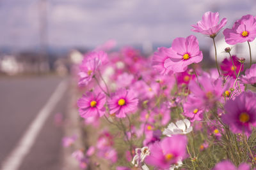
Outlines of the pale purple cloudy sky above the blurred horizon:
[{"label": "pale purple cloudy sky above the blurred horizon", "polygon": [[255,0],[0,0],[0,48],[40,45],[40,4],[47,11],[45,41],[60,48],[93,48],[108,39],[119,46],[168,45],[191,34],[207,45],[209,39],[191,31],[205,11],[218,11],[228,19],[226,27],[256,15]]}]

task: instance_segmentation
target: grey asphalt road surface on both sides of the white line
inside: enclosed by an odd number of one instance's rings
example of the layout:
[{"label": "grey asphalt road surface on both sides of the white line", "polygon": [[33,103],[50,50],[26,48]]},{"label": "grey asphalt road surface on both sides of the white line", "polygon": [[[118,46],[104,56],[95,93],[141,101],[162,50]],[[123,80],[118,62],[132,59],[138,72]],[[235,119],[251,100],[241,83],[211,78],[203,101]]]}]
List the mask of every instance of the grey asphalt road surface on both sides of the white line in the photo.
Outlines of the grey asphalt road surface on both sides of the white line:
[{"label": "grey asphalt road surface on both sides of the white line", "polygon": [[[63,79],[57,76],[0,78],[0,167]],[[54,124],[54,115],[65,115],[67,103],[66,90],[19,169],[61,169],[63,131]]]}]

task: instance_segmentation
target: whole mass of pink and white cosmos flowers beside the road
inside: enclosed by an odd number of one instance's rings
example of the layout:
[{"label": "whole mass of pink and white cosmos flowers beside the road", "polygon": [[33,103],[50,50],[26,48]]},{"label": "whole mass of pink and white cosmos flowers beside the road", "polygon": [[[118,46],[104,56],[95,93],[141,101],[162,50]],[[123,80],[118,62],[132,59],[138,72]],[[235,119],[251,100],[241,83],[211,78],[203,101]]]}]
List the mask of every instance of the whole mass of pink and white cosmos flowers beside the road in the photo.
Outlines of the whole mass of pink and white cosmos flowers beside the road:
[{"label": "whole mass of pink and white cosmos flowers beside the road", "polygon": [[[209,11],[191,31],[214,39],[226,24],[226,18],[219,24],[219,13]],[[223,34],[230,45],[249,43],[256,38],[256,19],[243,16]],[[256,127],[256,94],[248,87],[256,85],[256,64],[246,68],[241,56],[227,49],[219,74],[201,69],[203,54],[194,35],[173,39],[170,48],[159,47],[149,58],[132,47],[86,53],[78,71],[83,94],[77,106],[84,126],[93,126],[95,140],[90,149],[74,153],[81,167],[255,167],[250,137]],[[63,139],[64,146],[74,142]],[[215,148],[218,159],[211,156]],[[211,162],[204,164],[207,159]]]}]

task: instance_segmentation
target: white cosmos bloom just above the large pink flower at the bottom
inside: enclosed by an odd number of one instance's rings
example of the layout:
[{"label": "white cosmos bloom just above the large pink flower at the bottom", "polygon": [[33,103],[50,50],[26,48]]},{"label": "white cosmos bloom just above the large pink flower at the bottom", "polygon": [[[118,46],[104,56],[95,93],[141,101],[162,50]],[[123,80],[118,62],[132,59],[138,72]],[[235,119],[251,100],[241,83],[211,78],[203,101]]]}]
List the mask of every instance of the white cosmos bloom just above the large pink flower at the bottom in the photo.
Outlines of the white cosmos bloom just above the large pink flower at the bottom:
[{"label": "white cosmos bloom just above the large pink flower at the bottom", "polygon": [[178,120],[175,124],[171,123],[166,129],[164,129],[163,134],[171,137],[175,134],[188,134],[193,130],[190,126],[191,123],[188,119]]}]

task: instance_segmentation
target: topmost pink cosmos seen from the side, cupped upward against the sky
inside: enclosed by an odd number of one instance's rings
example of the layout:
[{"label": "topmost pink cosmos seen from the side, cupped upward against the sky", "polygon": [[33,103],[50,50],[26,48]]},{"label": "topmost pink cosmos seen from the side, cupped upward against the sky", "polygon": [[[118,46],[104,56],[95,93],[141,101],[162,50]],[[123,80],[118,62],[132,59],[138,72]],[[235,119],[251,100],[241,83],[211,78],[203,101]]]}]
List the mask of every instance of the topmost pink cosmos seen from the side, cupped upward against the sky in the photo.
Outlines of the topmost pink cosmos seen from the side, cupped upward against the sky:
[{"label": "topmost pink cosmos seen from the side, cupped upward against the sky", "polygon": [[220,24],[218,24],[218,22],[219,13],[207,11],[204,13],[202,20],[198,21],[196,25],[191,25],[194,27],[191,29],[191,31],[200,32],[202,34],[214,37],[220,31],[220,29],[227,24],[227,19],[223,18]]}]

